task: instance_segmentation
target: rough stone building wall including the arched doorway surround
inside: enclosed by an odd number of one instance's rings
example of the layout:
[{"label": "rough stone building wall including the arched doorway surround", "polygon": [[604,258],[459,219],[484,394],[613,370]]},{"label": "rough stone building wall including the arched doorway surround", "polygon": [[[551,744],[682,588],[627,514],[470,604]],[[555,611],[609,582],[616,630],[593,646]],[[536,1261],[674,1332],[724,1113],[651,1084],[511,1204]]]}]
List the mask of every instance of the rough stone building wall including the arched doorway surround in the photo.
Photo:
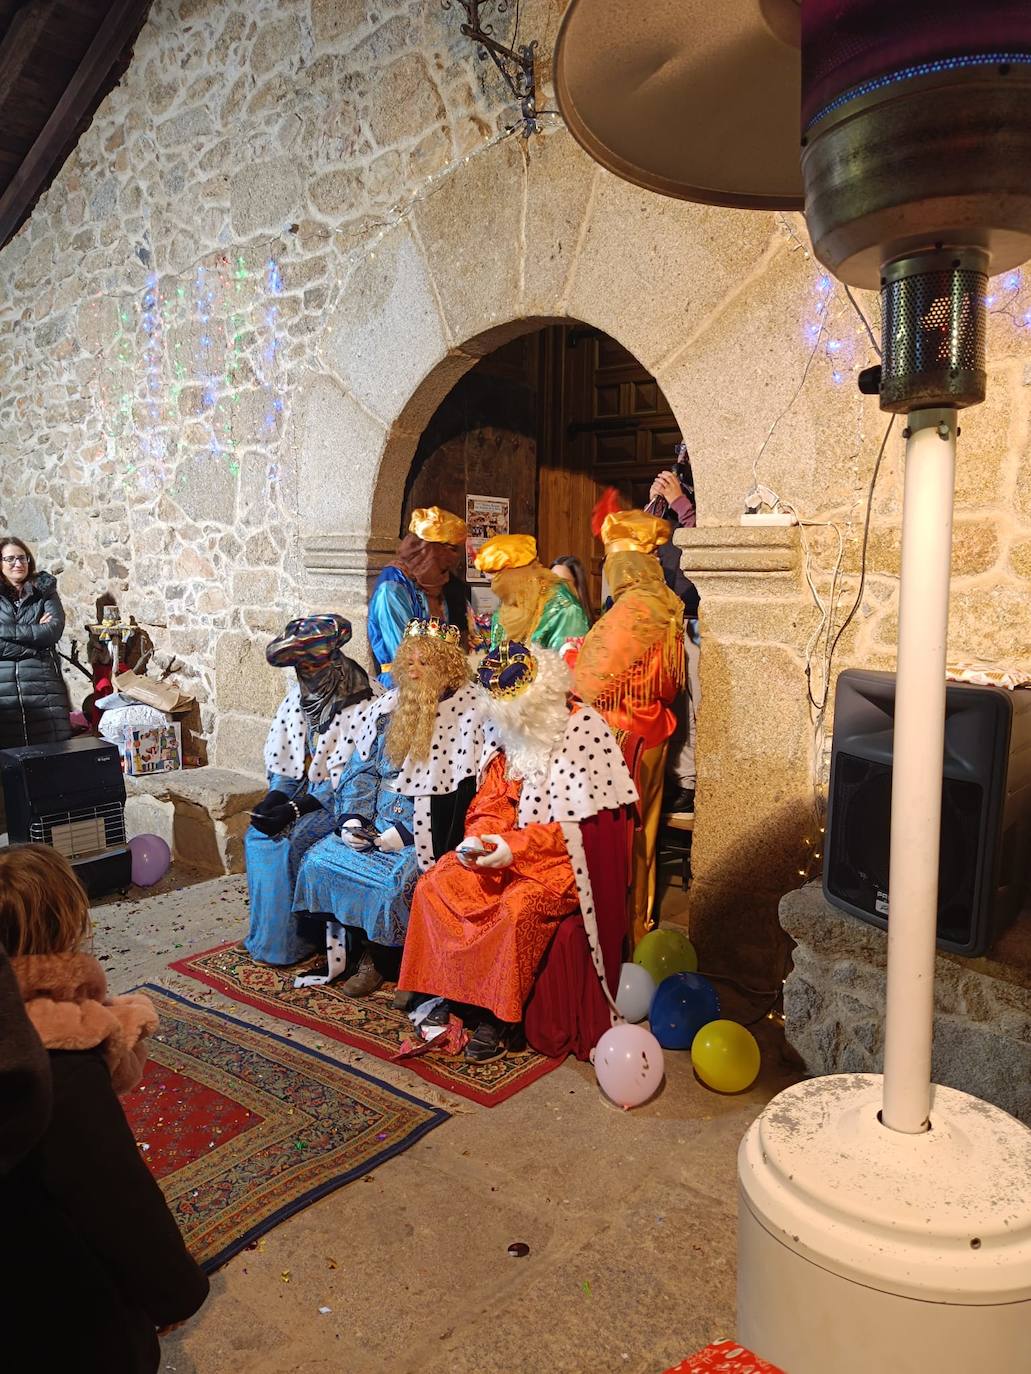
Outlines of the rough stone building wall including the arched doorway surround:
[{"label": "rough stone building wall including the arched doorway surround", "polygon": [[[521,8],[544,107],[561,10]],[[362,639],[412,455],[458,378],[547,322],[603,330],[657,378],[697,480],[693,925],[712,959],[768,976],[822,768],[807,661],[819,702],[812,636],[821,606],[840,622],[855,595],[885,425],[854,386],[872,348],[800,217],[635,190],[554,114],[522,137],[459,19],[430,0],[155,0],[0,253],[0,515],[60,573],[70,625],[113,591],[187,665],[212,761],[254,771],[282,692],[269,632],[333,607]],[[1031,666],[1031,346],[1023,279],[995,289],[990,398],[964,419],[953,646]],[[899,430],[834,671],[892,664]],[[801,530],[740,528],[756,481]]]}]

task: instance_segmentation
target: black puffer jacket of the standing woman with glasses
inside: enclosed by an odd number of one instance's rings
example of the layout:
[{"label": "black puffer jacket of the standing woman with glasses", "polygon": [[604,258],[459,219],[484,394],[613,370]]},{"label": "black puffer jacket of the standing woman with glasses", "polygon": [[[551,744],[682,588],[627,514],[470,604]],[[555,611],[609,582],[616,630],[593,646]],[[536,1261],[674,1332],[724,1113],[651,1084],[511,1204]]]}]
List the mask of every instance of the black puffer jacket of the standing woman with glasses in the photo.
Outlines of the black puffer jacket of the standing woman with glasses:
[{"label": "black puffer jacket of the standing woman with glasses", "polygon": [[[49,573],[36,573],[27,596],[0,588],[0,749],[69,739],[69,699],[55,646],[65,607]],[[45,614],[54,620],[40,621]]]}]

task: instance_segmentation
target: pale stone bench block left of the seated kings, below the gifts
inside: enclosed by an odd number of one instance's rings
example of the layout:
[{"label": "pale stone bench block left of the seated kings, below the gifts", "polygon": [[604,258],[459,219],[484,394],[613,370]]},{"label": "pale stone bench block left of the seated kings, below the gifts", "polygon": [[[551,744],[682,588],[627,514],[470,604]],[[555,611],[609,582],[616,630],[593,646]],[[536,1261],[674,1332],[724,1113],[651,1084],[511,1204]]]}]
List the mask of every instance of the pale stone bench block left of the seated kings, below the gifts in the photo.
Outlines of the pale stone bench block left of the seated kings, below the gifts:
[{"label": "pale stone bench block left of the seated kings, below the gifts", "polygon": [[177,768],[125,779],[129,837],[161,835],[199,872],[243,872],[243,833],[265,779],[230,768]]}]

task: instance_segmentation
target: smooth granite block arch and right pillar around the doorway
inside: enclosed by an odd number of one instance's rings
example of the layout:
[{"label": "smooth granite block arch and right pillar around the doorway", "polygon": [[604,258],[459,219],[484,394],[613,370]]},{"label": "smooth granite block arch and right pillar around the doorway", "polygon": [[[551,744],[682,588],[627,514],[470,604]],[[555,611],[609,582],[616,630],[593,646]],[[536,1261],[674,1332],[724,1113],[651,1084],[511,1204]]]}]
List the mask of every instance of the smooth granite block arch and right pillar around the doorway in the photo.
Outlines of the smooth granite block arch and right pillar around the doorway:
[{"label": "smooth granite block arch and right pillar around the doorway", "polygon": [[[726,539],[698,530],[700,556],[691,562],[689,551],[686,566],[709,605],[724,595],[734,609],[740,574],[764,573],[764,602],[744,643],[735,629],[724,642],[709,622],[691,894],[691,930],[709,967],[753,978],[782,966],[777,900],[793,885],[795,816],[804,824],[811,786],[796,647],[801,578],[793,536],[749,540],[733,528],[763,420],[748,400],[752,378],[737,376],[734,404],[712,414],[712,368],[737,365],[742,335],[753,338],[756,327],[771,341],[771,365],[784,365],[781,306],[797,272],[770,217],[649,195],[595,166],[565,132],[503,139],[443,174],[351,265],[320,339],[322,370],[308,378],[294,419],[304,580],[357,628],[370,581],[396,547],[419,436],[478,359],[575,319],[653,374],[689,436],[707,522],[727,530]],[[759,326],[745,298],[753,286],[770,297]],[[767,716],[782,720],[784,757],[751,757],[767,735],[745,738],[742,756],[741,732],[727,734],[737,660]],[[756,797],[756,767],[770,779],[768,801]]]}]

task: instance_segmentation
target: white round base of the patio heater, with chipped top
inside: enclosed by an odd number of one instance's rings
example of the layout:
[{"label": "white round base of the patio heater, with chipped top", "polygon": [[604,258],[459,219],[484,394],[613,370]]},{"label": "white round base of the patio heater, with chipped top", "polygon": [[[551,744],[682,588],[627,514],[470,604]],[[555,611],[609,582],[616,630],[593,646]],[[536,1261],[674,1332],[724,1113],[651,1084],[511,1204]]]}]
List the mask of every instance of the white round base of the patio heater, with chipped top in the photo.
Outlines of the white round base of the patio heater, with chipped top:
[{"label": "white round base of the patio heater, with chipped top", "polygon": [[799,1083],[742,1140],[737,1338],[788,1374],[1031,1369],[1031,1131],[935,1085],[902,1135],[881,1095]]}]

